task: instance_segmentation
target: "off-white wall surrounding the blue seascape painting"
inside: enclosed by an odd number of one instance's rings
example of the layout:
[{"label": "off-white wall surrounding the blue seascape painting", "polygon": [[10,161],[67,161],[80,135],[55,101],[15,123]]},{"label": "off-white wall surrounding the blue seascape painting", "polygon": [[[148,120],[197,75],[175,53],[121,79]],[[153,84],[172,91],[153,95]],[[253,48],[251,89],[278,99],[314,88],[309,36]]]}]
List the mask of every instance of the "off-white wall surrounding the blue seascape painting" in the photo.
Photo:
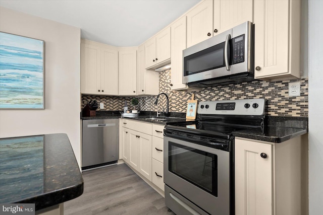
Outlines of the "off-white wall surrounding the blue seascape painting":
[{"label": "off-white wall surrounding the blue seascape painting", "polygon": [[45,41],[45,109],[0,110],[0,137],[67,133],[80,164],[80,29],[0,7],[0,31]]}]

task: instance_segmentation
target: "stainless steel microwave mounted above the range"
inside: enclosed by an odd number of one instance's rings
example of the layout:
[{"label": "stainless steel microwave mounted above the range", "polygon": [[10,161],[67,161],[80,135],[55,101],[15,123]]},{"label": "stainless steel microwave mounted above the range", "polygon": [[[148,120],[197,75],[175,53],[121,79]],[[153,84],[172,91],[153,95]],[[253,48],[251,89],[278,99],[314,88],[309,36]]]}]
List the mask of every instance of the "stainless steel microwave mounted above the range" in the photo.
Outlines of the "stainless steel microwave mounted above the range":
[{"label": "stainless steel microwave mounted above the range", "polygon": [[245,22],[183,50],[183,84],[209,87],[254,80],[253,24]]}]

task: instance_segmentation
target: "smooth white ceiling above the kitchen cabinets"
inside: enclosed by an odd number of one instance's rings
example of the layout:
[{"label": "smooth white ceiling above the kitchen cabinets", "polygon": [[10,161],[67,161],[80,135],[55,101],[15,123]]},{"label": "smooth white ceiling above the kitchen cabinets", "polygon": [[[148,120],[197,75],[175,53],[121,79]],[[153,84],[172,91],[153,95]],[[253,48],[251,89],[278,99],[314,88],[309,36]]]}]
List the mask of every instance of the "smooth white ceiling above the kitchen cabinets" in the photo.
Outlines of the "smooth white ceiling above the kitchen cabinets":
[{"label": "smooth white ceiling above the kitchen cabinets", "polygon": [[81,38],[138,46],[201,0],[0,0],[0,6],[81,28]]}]

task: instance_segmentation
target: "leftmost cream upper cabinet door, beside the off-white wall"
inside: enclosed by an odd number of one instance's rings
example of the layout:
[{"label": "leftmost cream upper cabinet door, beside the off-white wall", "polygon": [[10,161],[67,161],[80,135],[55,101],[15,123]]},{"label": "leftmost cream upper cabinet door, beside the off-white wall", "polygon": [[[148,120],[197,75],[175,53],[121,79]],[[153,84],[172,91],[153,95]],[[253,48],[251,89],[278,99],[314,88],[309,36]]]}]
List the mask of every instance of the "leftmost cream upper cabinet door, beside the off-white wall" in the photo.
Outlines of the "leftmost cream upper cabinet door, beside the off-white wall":
[{"label": "leftmost cream upper cabinet door, beside the off-white wall", "polygon": [[99,46],[81,43],[81,93],[101,94]]}]

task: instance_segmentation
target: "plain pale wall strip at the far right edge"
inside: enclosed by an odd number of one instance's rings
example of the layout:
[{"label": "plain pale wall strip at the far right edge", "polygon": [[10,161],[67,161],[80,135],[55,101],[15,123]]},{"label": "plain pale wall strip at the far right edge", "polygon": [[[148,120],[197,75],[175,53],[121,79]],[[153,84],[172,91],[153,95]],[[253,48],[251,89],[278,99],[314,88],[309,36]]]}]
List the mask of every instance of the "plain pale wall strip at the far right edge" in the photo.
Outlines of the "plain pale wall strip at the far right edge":
[{"label": "plain pale wall strip at the far right edge", "polygon": [[323,211],[323,1],[308,1],[309,214]]}]

